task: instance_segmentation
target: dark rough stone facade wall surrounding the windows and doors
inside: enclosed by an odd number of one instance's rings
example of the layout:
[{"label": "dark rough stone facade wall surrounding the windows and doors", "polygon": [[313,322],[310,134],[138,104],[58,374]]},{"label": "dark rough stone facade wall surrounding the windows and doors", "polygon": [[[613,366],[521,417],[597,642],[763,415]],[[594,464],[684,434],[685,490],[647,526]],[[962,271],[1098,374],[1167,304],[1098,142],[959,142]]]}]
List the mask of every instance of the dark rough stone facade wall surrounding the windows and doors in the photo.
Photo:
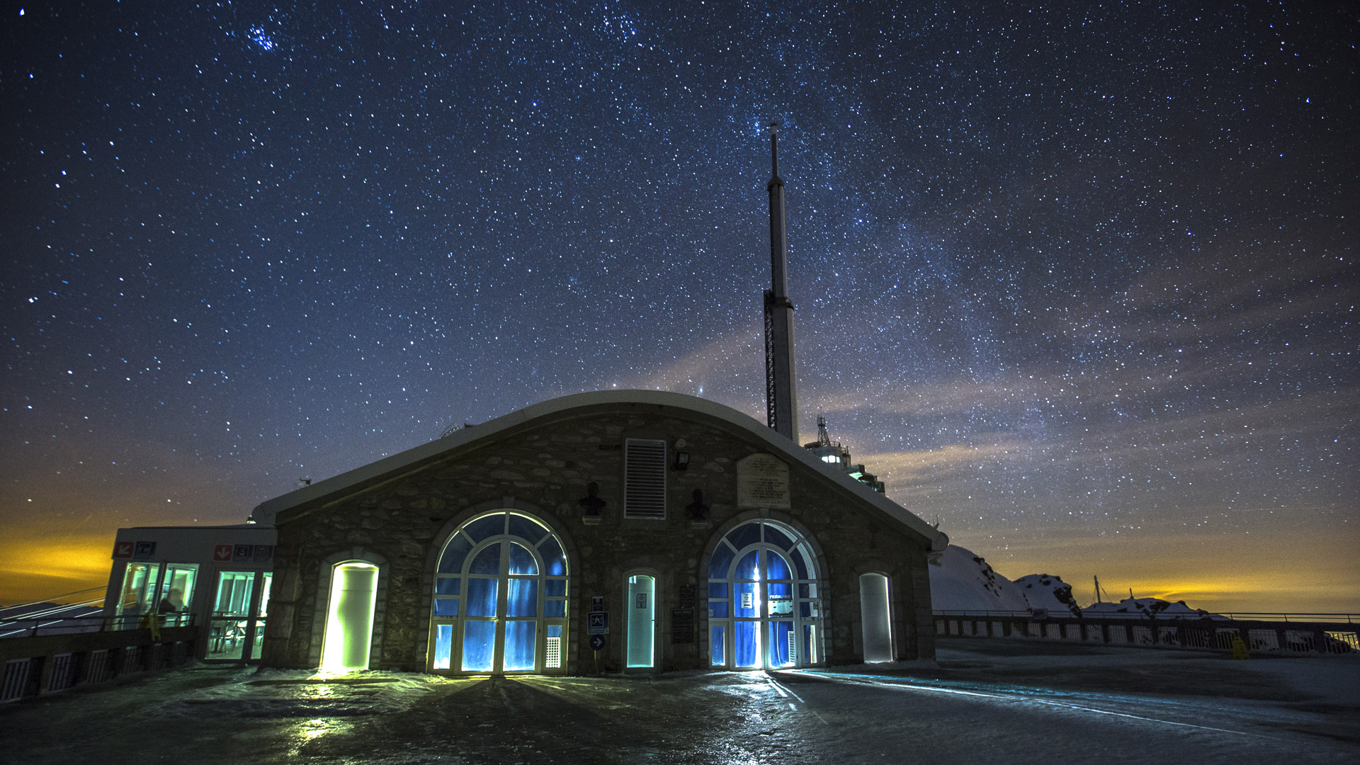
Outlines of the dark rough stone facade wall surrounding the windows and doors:
[{"label": "dark rough stone facade wall surrounding the windows and doors", "polygon": [[[384,603],[375,623],[374,668],[423,671],[427,666],[430,603],[435,561],[447,536],[486,510],[524,510],[559,534],[570,564],[567,672],[622,667],[619,637],[624,574],[650,569],[658,576],[656,614],[662,633],[661,670],[707,667],[707,551],[726,528],[751,517],[771,517],[801,528],[820,547],[824,591],[823,651],[830,664],[858,663],[861,573],[889,577],[894,636],[900,659],[933,657],[933,622],[926,542],[898,520],[831,486],[806,467],[790,464],[792,509],[736,505],[736,463],[767,451],[749,434],[679,410],[630,404],[615,411],[567,417],[472,441],[419,470],[356,487],[356,493],[277,519],[279,561],[264,663],[313,667],[320,657],[329,566],[339,559],[382,559]],[[624,411],[619,411],[624,410]],[[685,412],[688,414],[688,412]],[[660,438],[668,453],[690,453],[685,471],[666,476],[666,519],[623,517],[624,438]],[[676,449],[676,442],[684,446]],[[597,525],[583,523],[579,500],[596,482],[607,505]],[[709,520],[696,523],[685,506],[702,489]],[[680,585],[695,585],[695,638],[672,645],[670,610]],[[615,633],[598,666],[586,645],[585,613],[602,595]]]}]

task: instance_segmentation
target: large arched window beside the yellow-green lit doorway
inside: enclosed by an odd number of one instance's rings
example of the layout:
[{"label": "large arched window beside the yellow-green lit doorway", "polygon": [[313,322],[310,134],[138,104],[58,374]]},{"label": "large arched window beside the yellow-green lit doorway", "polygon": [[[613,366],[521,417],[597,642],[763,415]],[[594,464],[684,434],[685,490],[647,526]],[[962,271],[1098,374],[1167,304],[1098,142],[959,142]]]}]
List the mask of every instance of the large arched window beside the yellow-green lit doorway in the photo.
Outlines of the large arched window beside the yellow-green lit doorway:
[{"label": "large arched window beside the yellow-green lit doorway", "polygon": [[494,510],[458,527],[434,581],[430,668],[534,672],[563,667],[567,557],[543,523]]}]

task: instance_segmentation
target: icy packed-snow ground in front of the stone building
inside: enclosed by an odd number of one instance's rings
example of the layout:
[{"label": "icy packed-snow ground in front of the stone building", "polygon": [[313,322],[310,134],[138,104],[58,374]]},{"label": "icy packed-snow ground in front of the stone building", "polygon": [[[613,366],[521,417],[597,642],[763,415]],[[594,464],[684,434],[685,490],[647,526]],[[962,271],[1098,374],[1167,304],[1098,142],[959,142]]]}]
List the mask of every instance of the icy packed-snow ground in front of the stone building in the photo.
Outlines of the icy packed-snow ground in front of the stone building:
[{"label": "icy packed-snow ground in front of the stone building", "polygon": [[[1035,653],[1035,651],[1040,651]],[[948,640],[940,666],[443,679],[194,667],[0,708],[27,762],[1353,761],[1360,662]]]}]

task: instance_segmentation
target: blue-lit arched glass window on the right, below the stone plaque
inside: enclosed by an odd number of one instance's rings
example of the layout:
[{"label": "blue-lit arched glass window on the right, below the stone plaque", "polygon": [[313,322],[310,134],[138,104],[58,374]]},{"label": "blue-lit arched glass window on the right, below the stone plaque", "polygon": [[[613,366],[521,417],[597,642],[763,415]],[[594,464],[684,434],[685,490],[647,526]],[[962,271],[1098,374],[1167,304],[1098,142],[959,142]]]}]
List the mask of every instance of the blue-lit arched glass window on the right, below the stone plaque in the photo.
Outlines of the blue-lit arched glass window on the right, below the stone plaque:
[{"label": "blue-lit arched glass window on the right, below the stone plaque", "polygon": [[820,573],[796,530],[753,520],[709,558],[710,664],[734,670],[821,663]]}]

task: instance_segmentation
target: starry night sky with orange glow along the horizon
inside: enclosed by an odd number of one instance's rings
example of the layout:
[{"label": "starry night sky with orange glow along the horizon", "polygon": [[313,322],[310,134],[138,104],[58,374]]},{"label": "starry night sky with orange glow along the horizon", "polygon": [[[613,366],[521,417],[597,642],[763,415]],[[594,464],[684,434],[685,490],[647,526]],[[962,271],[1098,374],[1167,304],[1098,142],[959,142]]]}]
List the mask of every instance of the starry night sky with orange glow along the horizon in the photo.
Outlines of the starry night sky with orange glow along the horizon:
[{"label": "starry night sky with orange glow along the horizon", "polygon": [[800,432],[1083,600],[1355,611],[1345,3],[7,4],[0,600],[554,396]]}]

